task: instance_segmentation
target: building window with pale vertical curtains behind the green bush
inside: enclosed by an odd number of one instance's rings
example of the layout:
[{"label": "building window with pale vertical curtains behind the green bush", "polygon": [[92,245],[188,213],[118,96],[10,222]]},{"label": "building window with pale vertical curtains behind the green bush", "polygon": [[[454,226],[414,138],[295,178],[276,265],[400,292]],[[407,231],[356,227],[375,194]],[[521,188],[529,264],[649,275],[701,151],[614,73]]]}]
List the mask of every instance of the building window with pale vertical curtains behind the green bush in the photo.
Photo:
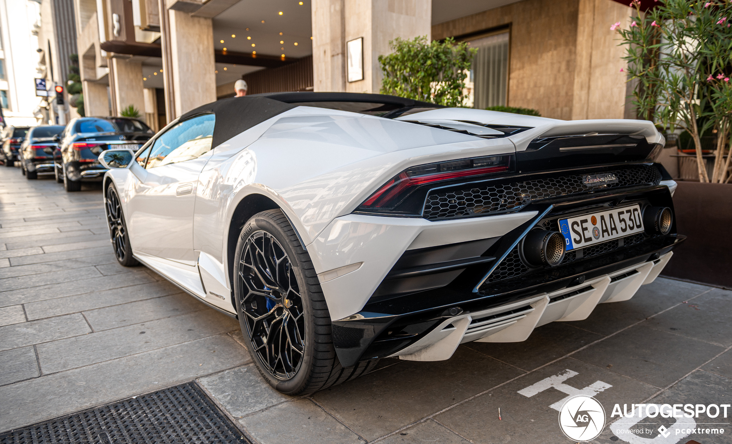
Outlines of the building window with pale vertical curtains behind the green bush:
[{"label": "building window with pale vertical curtains behind the green bush", "polygon": [[508,87],[509,33],[501,32],[470,40],[470,47],[477,48],[473,68],[466,79],[469,89],[467,106],[485,109],[506,105]]}]

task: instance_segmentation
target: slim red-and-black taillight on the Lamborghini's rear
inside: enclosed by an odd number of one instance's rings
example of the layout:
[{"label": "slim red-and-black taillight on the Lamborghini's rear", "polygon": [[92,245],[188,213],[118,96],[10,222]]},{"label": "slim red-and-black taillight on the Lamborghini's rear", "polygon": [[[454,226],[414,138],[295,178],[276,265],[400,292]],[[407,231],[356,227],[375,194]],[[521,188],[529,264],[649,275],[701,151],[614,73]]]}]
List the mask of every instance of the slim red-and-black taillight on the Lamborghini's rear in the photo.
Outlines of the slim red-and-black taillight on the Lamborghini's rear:
[{"label": "slim red-and-black taillight on the Lamborghini's rear", "polygon": [[485,156],[428,163],[403,170],[376,190],[359,210],[389,210],[425,184],[503,173],[511,167],[511,156]]}]

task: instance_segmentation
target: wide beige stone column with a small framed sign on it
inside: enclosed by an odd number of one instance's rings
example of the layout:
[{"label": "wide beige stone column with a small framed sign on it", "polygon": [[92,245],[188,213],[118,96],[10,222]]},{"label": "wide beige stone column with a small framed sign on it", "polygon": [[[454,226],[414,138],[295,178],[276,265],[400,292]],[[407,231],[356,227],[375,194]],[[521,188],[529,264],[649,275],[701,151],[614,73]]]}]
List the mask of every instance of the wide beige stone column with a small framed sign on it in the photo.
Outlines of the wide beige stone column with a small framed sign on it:
[{"label": "wide beige stone column with a small framed sign on it", "polygon": [[[427,36],[431,0],[313,0],[313,76],[315,91],[378,93],[378,56],[388,54],[389,40]],[[346,42],[363,37],[363,80],[346,81]]]}]

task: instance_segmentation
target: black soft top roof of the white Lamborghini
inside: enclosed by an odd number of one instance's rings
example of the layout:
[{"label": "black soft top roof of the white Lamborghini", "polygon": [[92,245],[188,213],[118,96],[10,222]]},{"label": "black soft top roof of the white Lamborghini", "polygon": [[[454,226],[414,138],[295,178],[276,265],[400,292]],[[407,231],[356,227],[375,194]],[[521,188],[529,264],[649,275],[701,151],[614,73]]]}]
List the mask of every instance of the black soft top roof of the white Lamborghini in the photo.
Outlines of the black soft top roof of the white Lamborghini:
[{"label": "black soft top roof of the white Lamborghini", "polygon": [[[201,113],[216,114],[212,146],[218,146],[240,132],[261,124],[268,118],[296,108],[301,103],[307,103],[309,106],[317,106],[313,102],[364,102],[389,105],[386,107],[389,108],[388,112],[381,115],[381,117],[385,118],[395,118],[410,108],[444,108],[444,106],[435,105],[434,103],[420,102],[419,100],[405,99],[404,97],[389,96],[386,94],[310,91],[273,92],[217,100],[216,102],[207,103],[206,105],[188,111],[181,116],[181,119],[184,120]],[[332,109],[335,107],[330,105],[324,108]]]}]

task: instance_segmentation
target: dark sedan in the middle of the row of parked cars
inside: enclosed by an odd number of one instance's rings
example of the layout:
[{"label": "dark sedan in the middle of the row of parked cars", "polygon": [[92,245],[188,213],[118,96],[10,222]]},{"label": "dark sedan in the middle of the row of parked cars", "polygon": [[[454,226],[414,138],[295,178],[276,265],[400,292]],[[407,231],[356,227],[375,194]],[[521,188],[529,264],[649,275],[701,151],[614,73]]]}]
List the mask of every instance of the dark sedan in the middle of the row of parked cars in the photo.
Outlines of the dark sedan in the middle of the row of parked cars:
[{"label": "dark sedan in the middle of the row of parked cars", "polygon": [[28,130],[18,150],[20,169],[26,178],[34,179],[39,174],[54,173],[56,165],[53,158],[63,130],[63,125],[41,125]]}]

